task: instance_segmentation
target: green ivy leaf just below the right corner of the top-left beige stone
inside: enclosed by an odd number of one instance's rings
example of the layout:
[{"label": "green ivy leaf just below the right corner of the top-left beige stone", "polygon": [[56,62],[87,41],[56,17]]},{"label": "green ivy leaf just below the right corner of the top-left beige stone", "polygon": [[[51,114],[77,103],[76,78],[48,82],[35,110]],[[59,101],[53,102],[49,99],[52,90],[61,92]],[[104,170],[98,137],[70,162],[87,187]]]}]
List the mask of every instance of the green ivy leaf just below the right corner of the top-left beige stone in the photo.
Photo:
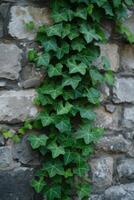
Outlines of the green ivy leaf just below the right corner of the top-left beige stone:
[{"label": "green ivy leaf just below the right corner of the top-left beige stone", "polygon": [[49,37],[51,36],[59,36],[61,37],[62,33],[62,23],[55,24],[46,28],[46,33]]}]

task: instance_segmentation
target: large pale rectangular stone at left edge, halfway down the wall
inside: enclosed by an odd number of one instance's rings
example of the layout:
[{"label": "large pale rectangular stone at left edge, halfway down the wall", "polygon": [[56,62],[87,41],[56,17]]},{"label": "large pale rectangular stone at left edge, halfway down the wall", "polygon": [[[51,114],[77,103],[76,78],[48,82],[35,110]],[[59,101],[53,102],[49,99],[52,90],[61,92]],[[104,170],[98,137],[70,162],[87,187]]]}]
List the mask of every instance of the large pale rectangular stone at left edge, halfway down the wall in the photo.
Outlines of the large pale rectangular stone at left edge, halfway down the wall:
[{"label": "large pale rectangular stone at left edge, halfway down the wall", "polygon": [[0,121],[8,123],[23,122],[33,119],[37,108],[33,105],[35,90],[1,91],[0,92]]}]

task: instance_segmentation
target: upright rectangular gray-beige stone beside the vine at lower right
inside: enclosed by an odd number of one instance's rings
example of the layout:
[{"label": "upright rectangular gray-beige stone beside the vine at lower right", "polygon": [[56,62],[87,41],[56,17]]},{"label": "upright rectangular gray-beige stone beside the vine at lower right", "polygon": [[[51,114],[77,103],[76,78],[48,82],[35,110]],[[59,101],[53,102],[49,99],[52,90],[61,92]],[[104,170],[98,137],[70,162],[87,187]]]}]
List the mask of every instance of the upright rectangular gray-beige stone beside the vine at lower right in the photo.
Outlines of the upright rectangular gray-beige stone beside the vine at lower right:
[{"label": "upright rectangular gray-beige stone beside the vine at lower right", "polygon": [[102,156],[98,159],[92,159],[90,165],[95,190],[104,190],[109,187],[113,176],[113,158]]}]

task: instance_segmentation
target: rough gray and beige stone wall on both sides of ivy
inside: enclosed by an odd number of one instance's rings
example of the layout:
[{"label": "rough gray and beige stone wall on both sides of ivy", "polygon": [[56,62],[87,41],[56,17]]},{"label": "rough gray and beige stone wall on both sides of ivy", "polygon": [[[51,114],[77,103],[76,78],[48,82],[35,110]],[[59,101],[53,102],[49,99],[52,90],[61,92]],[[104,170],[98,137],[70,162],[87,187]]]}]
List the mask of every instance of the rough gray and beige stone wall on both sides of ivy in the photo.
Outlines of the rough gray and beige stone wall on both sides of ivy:
[{"label": "rough gray and beige stone wall on both sides of ivy", "polygon": [[[37,113],[32,100],[43,73],[28,63],[35,32],[28,32],[25,23],[50,23],[47,6],[45,0],[0,0],[0,131],[15,134]],[[134,12],[128,15],[126,25],[134,31]],[[101,45],[101,54],[109,57],[116,82],[113,88],[102,86],[96,110],[96,124],[106,131],[90,160],[90,200],[134,200],[134,46],[112,34],[110,24],[105,27],[109,43]],[[19,144],[0,135],[0,200],[39,200],[30,187],[38,165],[27,135]]]}]

